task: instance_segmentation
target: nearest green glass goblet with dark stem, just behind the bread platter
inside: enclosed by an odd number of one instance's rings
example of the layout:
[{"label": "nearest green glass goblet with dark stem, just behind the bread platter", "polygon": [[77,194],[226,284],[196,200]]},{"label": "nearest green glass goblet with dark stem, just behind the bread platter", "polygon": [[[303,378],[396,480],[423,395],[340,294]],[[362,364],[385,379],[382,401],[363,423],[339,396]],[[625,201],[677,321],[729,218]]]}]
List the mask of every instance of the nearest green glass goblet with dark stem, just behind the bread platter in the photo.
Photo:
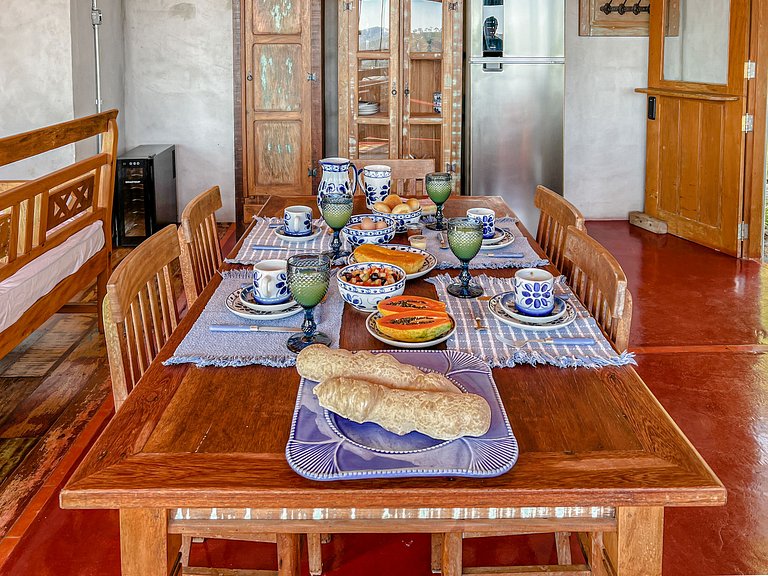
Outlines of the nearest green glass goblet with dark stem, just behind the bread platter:
[{"label": "nearest green glass goblet with dark stem, just behind the bread platter", "polygon": [[317,331],[313,315],[315,306],[322,302],[328,292],[331,279],[331,259],[326,254],[297,254],[288,258],[288,288],[293,299],[304,308],[302,334],[288,339],[291,352],[301,352],[311,344],[330,346],[331,339]]}]

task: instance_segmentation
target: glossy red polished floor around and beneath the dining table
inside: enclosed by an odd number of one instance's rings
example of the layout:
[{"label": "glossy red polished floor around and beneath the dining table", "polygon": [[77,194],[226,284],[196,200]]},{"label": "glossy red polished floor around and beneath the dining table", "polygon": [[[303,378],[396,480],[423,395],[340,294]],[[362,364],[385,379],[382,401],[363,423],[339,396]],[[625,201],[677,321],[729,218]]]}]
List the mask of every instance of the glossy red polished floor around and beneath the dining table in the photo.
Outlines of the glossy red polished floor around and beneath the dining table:
[{"label": "glossy red polished floor around and beneath the dining table", "polygon": [[[665,576],[768,574],[768,349],[733,351],[768,344],[768,267],[623,222],[592,222],[589,231],[627,272],[631,346],[651,351],[638,356],[640,375],[728,489],[724,507],[667,512]],[[464,547],[467,566],[554,560],[545,537]],[[329,576],[430,574],[423,535],[335,536],[323,555]],[[272,545],[206,541],[192,561],[266,569],[275,553]],[[117,514],[62,511],[50,500],[0,568],[10,574],[117,576]]]}]

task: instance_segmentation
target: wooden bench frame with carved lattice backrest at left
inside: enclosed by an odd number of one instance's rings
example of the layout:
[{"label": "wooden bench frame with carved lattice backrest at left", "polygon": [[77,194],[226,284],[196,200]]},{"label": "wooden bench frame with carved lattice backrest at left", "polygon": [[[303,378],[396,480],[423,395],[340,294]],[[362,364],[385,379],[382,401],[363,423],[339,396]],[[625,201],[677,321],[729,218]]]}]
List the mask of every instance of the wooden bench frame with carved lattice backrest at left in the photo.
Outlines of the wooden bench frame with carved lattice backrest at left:
[{"label": "wooden bench frame with carved lattice backrest at left", "polygon": [[[76,270],[68,273],[21,316],[0,331],[0,358],[94,282],[99,329],[103,327],[100,304],[111,273],[112,198],[117,158],[117,110],[63,122],[0,139],[0,166],[32,158],[50,150],[102,136],[101,151],[60,170],[25,182],[0,185],[0,287],[11,285],[58,252],[101,224],[103,245]],[[79,234],[83,232],[83,234]],[[98,232],[98,231],[97,231]],[[68,244],[67,241],[70,241]],[[98,240],[92,240],[94,244]],[[52,252],[57,250],[57,252]],[[41,280],[53,280],[40,270]],[[83,306],[73,311],[83,312]],[[16,311],[16,313],[18,310]],[[12,318],[13,316],[11,316]],[[0,324],[2,326],[2,324]]]}]

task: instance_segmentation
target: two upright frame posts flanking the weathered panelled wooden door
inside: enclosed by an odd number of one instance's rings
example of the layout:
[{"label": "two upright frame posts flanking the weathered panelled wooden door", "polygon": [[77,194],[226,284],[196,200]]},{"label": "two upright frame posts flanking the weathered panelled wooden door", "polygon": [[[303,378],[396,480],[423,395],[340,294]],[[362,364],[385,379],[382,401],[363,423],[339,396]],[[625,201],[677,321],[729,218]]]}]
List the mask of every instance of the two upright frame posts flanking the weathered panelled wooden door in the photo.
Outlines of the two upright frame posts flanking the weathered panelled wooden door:
[{"label": "two upright frame posts flanking the weathered panelled wooden door", "polygon": [[[245,222],[245,191],[248,188],[248,150],[246,149],[245,126],[246,111],[243,88],[245,86],[244,42],[245,5],[248,0],[232,0],[232,88],[234,117],[234,156],[235,156],[235,221],[237,235],[240,236],[247,225]],[[312,83],[312,161],[323,157],[324,114],[323,114],[323,1],[309,0],[311,67],[317,75],[317,82]],[[312,178],[312,188],[316,189],[319,176]],[[266,198],[265,198],[266,201]]]}]

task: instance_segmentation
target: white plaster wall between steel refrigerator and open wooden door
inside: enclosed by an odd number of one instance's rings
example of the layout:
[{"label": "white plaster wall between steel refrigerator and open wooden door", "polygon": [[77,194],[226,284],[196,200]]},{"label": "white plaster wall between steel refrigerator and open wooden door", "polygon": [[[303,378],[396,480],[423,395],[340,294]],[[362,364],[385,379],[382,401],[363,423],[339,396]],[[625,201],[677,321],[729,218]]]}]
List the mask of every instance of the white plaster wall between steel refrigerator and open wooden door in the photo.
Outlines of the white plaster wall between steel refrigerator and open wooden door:
[{"label": "white plaster wall between steel refrigerator and open wooden door", "polygon": [[648,38],[580,37],[566,0],[564,195],[586,218],[626,219],[645,202]]}]

